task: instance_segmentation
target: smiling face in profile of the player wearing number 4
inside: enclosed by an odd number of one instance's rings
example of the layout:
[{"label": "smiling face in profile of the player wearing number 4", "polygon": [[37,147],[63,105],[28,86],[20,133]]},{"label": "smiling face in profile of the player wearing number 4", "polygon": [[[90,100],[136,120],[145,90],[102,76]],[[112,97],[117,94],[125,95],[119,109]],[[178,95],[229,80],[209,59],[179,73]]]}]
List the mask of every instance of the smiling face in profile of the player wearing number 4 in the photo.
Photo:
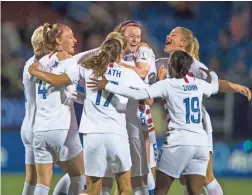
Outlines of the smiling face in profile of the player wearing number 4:
[{"label": "smiling face in profile of the player wearing number 4", "polygon": [[66,51],[68,54],[74,54],[74,46],[77,43],[77,40],[74,38],[74,34],[71,28],[66,26],[58,38],[58,42],[62,49]]}]

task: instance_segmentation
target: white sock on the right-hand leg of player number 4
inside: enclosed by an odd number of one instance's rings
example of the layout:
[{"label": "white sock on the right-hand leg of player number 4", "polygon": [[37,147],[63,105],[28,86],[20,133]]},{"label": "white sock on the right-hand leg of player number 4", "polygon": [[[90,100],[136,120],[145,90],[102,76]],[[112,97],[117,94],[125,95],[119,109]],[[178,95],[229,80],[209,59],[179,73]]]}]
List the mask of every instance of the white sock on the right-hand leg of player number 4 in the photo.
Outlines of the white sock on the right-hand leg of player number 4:
[{"label": "white sock on the right-hand leg of player number 4", "polygon": [[68,195],[79,194],[80,191],[85,189],[86,177],[84,175],[78,177],[70,177],[71,184],[69,186]]}]

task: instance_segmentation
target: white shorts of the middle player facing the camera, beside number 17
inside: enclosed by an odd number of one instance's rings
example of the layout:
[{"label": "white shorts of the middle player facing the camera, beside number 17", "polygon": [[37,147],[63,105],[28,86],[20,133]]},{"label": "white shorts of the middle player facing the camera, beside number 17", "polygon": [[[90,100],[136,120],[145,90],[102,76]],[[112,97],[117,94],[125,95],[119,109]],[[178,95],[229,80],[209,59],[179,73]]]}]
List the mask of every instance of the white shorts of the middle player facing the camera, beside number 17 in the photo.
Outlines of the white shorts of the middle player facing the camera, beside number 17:
[{"label": "white shorts of the middle player facing the camera, beside number 17", "polygon": [[131,177],[143,176],[149,173],[144,139],[129,138],[130,155],[132,159]]}]

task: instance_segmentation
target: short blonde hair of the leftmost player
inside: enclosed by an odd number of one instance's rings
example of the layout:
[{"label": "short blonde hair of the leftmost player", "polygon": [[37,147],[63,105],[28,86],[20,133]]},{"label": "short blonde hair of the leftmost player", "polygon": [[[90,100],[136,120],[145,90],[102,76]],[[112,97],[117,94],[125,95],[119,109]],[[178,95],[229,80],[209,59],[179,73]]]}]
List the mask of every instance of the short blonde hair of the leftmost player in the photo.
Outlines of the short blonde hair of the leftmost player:
[{"label": "short blonde hair of the leftmost player", "polygon": [[39,26],[33,32],[32,37],[31,37],[31,44],[32,44],[34,53],[39,53],[39,55],[42,55],[42,52],[44,50],[43,30],[44,30],[44,27],[43,26]]}]

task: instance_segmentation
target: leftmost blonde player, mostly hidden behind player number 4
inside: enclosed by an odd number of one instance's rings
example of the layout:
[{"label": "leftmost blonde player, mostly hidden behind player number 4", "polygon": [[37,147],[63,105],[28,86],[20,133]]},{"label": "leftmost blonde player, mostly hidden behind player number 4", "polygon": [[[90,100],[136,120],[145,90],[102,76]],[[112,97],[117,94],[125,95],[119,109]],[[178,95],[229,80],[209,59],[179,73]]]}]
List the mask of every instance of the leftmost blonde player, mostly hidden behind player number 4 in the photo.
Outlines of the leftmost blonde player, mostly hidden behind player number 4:
[{"label": "leftmost blonde player, mostly hidden behind player number 4", "polygon": [[24,66],[23,84],[25,93],[25,118],[21,126],[21,139],[25,147],[25,184],[22,195],[33,195],[37,183],[37,174],[33,154],[33,121],[36,112],[36,88],[35,81],[28,72],[29,67],[37,62],[49,51],[43,45],[43,26],[38,27],[32,34],[31,44],[34,51],[32,56]]}]

